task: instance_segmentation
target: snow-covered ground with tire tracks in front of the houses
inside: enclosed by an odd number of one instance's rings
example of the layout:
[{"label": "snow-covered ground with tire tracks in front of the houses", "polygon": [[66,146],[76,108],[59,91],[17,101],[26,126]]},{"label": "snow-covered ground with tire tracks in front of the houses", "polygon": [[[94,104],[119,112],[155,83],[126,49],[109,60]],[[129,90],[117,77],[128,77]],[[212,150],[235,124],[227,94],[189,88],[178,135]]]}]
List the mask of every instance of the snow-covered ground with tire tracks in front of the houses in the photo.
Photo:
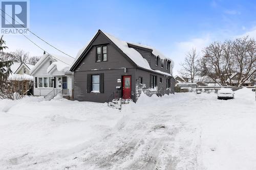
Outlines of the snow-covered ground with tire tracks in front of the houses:
[{"label": "snow-covered ground with tire tracks in front of the houses", "polygon": [[256,169],[249,89],[101,103],[0,101],[0,169]]}]

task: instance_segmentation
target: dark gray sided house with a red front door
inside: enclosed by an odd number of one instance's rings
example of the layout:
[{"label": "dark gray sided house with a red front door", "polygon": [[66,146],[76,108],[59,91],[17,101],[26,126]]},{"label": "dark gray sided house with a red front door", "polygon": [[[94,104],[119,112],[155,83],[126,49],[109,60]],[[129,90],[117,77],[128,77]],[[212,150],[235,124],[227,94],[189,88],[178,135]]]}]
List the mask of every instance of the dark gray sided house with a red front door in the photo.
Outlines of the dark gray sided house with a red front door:
[{"label": "dark gray sided house with a red front door", "polygon": [[141,91],[174,93],[172,69],[173,61],[155,48],[121,41],[99,30],[71,66],[74,100],[103,103],[118,94],[136,102]]}]

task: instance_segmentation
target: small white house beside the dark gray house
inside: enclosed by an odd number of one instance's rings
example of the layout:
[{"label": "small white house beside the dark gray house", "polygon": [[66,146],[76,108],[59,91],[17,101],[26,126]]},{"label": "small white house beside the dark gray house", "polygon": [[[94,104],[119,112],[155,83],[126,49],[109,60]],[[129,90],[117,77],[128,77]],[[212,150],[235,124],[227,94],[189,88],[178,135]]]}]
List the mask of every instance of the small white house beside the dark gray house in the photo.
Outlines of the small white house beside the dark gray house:
[{"label": "small white house beside the dark gray house", "polygon": [[69,71],[74,61],[71,57],[45,54],[31,70],[34,77],[34,95],[53,98],[61,93],[73,99],[73,72]]}]

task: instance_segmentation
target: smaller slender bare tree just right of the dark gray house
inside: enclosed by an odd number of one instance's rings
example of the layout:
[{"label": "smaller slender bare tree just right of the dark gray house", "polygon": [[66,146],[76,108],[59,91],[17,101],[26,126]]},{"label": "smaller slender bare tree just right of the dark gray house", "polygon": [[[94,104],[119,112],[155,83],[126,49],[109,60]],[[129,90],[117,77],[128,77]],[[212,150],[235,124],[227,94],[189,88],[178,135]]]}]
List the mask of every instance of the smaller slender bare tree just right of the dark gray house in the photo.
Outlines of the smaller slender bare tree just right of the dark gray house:
[{"label": "smaller slender bare tree just right of the dark gray house", "polygon": [[196,48],[193,48],[186,54],[185,60],[180,64],[182,66],[179,71],[182,76],[189,77],[193,83],[198,73],[198,54]]}]

